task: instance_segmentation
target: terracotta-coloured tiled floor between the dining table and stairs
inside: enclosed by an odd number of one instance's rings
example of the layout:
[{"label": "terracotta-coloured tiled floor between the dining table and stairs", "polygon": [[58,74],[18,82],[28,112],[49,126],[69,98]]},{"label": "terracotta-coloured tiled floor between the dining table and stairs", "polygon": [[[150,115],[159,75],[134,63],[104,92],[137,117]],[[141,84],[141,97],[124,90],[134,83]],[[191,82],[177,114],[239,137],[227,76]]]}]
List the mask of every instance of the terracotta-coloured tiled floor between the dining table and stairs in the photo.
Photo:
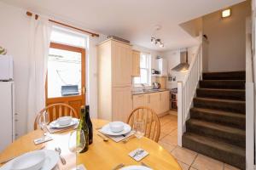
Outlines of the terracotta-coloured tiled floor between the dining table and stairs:
[{"label": "terracotta-coloured tiled floor between the dining table and stairs", "polygon": [[177,146],[177,112],[170,111],[170,113],[170,115],[160,117],[159,144],[172,153],[183,170],[237,170],[236,167],[224,162]]}]

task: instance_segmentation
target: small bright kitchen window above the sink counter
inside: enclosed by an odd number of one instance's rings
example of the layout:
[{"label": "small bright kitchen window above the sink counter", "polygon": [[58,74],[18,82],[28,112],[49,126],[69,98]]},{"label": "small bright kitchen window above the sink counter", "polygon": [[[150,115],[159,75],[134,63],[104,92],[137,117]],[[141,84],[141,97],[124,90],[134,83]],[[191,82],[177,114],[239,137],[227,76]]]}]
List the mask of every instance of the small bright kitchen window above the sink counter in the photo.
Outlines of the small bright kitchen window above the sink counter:
[{"label": "small bright kitchen window above the sink counter", "polygon": [[147,53],[141,53],[140,56],[140,77],[134,77],[133,82],[135,85],[144,84],[150,85],[150,65],[151,65],[151,55]]}]

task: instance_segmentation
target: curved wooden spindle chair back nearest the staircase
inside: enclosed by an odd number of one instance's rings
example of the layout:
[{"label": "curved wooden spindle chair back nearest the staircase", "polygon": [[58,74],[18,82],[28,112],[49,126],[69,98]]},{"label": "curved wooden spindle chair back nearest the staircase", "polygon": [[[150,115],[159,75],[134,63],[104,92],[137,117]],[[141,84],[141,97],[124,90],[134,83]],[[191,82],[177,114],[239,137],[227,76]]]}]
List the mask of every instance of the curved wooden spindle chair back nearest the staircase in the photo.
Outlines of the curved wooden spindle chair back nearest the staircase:
[{"label": "curved wooden spindle chair back nearest the staircase", "polygon": [[131,112],[127,123],[133,127],[134,122],[137,120],[145,122],[145,137],[158,142],[160,137],[160,120],[155,112],[148,107],[138,107]]}]

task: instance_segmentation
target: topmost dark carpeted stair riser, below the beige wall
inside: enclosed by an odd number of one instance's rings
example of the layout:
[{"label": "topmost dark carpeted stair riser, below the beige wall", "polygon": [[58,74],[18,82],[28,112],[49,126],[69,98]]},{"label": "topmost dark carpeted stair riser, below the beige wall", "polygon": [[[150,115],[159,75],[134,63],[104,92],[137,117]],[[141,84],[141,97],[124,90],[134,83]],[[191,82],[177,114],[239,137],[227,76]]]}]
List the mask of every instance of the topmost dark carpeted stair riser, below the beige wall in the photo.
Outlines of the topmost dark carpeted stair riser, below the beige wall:
[{"label": "topmost dark carpeted stair riser, below the beige wall", "polygon": [[203,73],[204,80],[245,80],[245,71]]}]

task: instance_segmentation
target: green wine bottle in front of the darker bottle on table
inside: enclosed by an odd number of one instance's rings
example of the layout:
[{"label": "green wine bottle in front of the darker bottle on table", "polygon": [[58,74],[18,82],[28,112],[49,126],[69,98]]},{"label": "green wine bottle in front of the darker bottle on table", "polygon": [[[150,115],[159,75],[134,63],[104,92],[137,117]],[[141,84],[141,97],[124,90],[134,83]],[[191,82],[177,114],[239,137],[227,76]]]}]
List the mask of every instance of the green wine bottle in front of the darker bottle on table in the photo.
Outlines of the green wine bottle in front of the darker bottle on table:
[{"label": "green wine bottle in front of the darker bottle on table", "polygon": [[84,105],[81,106],[81,115],[80,115],[80,122],[79,122],[78,129],[84,132],[85,146],[84,146],[84,150],[80,151],[80,153],[84,153],[89,149],[89,129],[86,124],[86,115],[85,115]]}]

